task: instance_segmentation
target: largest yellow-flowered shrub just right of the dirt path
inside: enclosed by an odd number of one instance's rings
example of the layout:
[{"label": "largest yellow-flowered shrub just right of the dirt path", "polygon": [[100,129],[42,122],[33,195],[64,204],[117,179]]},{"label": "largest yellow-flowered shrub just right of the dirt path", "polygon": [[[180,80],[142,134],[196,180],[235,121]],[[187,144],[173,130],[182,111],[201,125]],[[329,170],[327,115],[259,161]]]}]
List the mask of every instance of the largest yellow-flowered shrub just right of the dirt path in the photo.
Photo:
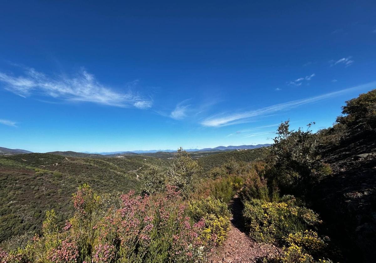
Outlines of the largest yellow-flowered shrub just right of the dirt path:
[{"label": "largest yellow-flowered shrub just right of the dirt path", "polygon": [[321,222],[316,213],[299,206],[292,196],[282,197],[281,202],[246,201],[243,217],[250,236],[258,242],[283,242],[290,233]]}]

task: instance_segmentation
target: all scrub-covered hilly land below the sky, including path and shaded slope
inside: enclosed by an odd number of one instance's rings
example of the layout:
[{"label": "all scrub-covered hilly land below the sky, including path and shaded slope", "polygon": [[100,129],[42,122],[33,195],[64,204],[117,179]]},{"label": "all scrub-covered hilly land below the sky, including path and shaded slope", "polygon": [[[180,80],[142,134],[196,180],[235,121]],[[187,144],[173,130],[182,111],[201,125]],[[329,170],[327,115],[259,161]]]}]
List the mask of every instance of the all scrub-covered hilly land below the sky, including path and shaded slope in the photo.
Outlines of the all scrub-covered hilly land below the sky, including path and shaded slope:
[{"label": "all scrub-covered hilly land below the sky, including path and shaded slope", "polygon": [[2,262],[373,262],[376,90],[342,113],[198,160],[0,157]]}]

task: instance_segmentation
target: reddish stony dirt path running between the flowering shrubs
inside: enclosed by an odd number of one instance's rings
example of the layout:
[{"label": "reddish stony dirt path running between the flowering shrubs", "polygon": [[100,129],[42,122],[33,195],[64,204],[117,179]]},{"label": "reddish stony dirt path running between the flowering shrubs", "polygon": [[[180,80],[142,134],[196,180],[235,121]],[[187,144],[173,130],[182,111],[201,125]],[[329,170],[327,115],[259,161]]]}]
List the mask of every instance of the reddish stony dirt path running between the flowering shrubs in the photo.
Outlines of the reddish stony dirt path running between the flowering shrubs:
[{"label": "reddish stony dirt path running between the flowering shrubs", "polygon": [[258,258],[277,255],[280,249],[271,244],[262,244],[253,241],[244,231],[241,212],[243,204],[240,198],[235,197],[229,203],[233,218],[230,231],[222,246],[209,257],[211,263],[247,263],[256,262]]}]

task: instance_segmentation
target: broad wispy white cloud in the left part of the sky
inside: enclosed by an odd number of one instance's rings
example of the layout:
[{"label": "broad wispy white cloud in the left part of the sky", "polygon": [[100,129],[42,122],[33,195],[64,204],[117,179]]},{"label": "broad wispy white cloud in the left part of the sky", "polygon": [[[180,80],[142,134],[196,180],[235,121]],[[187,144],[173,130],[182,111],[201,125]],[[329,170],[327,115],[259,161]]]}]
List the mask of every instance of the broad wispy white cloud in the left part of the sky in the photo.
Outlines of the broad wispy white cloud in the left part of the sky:
[{"label": "broad wispy white cloud in the left part of the sky", "polygon": [[22,97],[43,95],[65,101],[83,101],[115,107],[150,108],[152,101],[132,92],[120,93],[100,84],[85,70],[76,77],[49,77],[34,69],[26,69],[23,76],[14,77],[0,72],[4,88]]}]

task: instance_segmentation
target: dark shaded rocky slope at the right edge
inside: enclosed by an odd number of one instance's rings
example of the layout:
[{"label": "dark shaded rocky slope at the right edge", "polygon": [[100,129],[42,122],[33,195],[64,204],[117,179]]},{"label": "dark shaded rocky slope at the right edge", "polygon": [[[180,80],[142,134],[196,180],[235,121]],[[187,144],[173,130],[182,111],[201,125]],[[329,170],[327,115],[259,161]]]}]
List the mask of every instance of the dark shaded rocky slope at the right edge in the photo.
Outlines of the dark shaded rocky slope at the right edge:
[{"label": "dark shaded rocky slope at the right edge", "polygon": [[[323,152],[333,174],[312,189],[314,209],[349,262],[376,258],[376,141],[373,136]],[[355,260],[355,261],[354,261]]]}]

